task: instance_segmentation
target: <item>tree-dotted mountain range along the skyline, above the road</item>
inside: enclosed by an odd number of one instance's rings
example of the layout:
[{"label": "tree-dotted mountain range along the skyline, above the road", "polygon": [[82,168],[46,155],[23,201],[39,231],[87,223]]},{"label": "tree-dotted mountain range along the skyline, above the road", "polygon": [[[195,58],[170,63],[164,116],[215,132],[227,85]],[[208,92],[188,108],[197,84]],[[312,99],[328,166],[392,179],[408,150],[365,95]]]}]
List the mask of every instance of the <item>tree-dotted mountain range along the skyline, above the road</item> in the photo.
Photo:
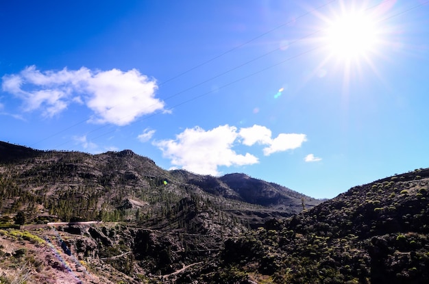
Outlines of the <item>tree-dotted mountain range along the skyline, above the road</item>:
[{"label": "tree-dotted mountain range along the skyline, above the road", "polygon": [[158,227],[159,220],[177,217],[189,202],[245,227],[321,202],[243,174],[218,178],[163,170],[130,150],[89,155],[5,142],[0,143],[0,196],[3,216],[25,211],[28,222],[130,220]]}]

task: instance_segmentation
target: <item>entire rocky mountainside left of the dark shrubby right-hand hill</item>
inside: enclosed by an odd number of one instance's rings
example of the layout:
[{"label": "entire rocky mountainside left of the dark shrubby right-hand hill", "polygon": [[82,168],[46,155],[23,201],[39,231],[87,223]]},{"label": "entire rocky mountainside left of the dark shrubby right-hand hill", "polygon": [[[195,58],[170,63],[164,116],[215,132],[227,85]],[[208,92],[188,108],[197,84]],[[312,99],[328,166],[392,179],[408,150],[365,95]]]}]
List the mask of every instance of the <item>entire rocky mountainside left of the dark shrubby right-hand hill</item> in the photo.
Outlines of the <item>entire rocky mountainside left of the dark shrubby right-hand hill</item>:
[{"label": "entire rocky mountainside left of the dark shrubby right-hand hill", "polygon": [[243,174],[163,170],[130,150],[5,142],[0,197],[1,283],[173,282],[216,259],[228,237],[321,203]]}]

